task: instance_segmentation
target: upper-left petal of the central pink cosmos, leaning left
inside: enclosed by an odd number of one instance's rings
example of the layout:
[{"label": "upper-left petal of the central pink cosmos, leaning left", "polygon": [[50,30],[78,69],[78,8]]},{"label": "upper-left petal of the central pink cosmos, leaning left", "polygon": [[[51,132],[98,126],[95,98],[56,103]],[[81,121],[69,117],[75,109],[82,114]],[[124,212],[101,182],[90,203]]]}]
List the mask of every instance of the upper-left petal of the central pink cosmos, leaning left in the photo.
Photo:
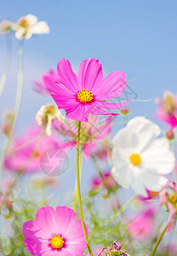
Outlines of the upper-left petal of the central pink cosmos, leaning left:
[{"label": "upper-left petal of the central pink cosmos, leaning left", "polygon": [[78,92],[77,75],[71,69],[70,61],[62,59],[58,62],[57,73],[61,84],[64,84],[68,90]]}]

